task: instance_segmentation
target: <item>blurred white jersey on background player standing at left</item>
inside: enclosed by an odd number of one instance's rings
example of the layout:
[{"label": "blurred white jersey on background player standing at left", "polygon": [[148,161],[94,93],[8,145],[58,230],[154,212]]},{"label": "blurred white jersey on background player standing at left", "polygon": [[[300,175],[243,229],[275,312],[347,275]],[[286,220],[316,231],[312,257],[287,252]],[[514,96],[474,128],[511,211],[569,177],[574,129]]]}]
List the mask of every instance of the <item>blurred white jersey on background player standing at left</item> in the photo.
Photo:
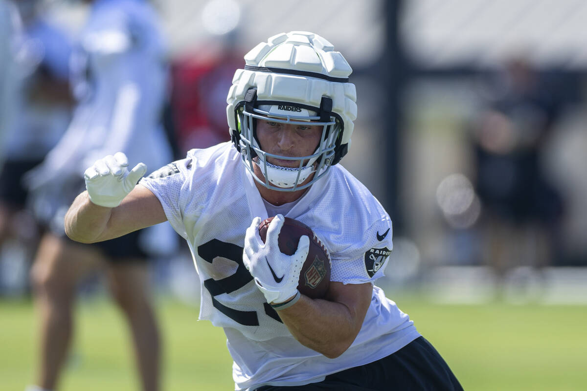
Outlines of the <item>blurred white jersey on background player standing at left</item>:
[{"label": "blurred white jersey on background player standing at left", "polygon": [[[45,164],[82,176],[108,154],[153,171],[172,159],[161,114],[167,48],[158,18],[142,0],[96,0],[70,60],[72,122]],[[72,172],[75,171],[75,172]]]}]

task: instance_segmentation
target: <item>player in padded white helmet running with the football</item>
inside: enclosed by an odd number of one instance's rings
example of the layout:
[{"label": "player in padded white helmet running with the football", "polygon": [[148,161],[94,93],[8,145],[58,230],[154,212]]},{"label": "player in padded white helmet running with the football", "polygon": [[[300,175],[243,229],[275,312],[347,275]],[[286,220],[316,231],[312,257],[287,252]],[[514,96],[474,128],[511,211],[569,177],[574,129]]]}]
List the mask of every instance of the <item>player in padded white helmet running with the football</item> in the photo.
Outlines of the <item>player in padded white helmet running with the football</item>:
[{"label": "player in padded white helmet running with the football", "polygon": [[[228,91],[232,142],[193,149],[147,178],[123,154],[85,172],[66,215],[70,237],[99,242],[168,220],[193,253],[200,319],[224,328],[237,390],[460,390],[409,317],[374,285],[392,222],[338,162],[349,149],[356,90],[345,58],[319,35],[259,43]],[[266,242],[259,223],[276,216]],[[312,227],[332,259],[328,293],[298,291],[308,254],[276,237],[284,216]]]}]

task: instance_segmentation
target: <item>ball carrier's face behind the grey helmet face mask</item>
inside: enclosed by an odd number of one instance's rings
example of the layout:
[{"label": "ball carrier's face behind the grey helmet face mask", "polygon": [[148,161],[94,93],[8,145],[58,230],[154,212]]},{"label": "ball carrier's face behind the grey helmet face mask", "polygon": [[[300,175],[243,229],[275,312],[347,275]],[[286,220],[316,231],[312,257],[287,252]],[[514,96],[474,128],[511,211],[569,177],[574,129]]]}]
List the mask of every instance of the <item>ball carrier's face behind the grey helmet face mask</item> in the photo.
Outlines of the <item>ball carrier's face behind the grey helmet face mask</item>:
[{"label": "ball carrier's face behind the grey helmet face mask", "polygon": [[[257,140],[269,154],[286,157],[312,155],[322,137],[322,126],[281,124],[269,120],[257,121]],[[268,157],[268,162],[282,167],[299,167],[299,160]],[[306,162],[304,162],[306,164]]]}]

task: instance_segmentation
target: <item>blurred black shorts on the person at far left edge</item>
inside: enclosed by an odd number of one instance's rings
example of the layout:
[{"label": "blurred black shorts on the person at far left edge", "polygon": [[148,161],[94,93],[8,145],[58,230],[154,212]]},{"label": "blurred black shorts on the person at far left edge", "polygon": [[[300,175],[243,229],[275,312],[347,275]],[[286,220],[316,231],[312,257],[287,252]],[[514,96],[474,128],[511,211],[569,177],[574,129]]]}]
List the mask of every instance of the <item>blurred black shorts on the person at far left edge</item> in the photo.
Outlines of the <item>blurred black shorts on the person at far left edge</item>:
[{"label": "blurred black shorts on the person at far left edge", "polygon": [[22,176],[42,160],[6,160],[0,168],[0,200],[16,208],[25,206],[28,189],[22,185]]}]

